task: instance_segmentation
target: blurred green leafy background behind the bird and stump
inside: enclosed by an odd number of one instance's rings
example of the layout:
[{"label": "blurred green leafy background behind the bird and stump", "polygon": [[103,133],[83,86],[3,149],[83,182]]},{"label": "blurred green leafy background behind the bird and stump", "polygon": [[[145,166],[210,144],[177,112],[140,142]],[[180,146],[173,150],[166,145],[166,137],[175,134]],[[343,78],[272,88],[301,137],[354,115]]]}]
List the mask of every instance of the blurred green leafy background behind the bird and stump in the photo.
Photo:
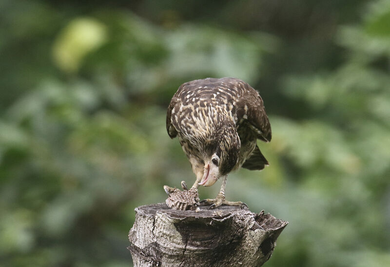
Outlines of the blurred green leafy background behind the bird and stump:
[{"label": "blurred green leafy background behind the bird and stump", "polygon": [[194,180],[170,98],[223,76],[273,127],[227,185],[290,222],[267,266],[390,266],[390,1],[1,0],[0,55],[1,267],[131,266],[134,208]]}]

